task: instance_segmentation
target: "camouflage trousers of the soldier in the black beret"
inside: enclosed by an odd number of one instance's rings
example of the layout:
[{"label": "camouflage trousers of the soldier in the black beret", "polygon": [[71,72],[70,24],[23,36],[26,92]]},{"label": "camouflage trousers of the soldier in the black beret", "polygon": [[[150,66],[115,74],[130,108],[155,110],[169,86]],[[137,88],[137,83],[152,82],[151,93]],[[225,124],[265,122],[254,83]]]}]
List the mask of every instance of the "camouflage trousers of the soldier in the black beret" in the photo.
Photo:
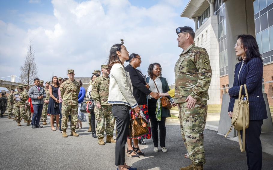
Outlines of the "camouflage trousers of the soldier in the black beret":
[{"label": "camouflage trousers of the soldier in the black beret", "polygon": [[195,165],[205,164],[203,131],[207,119],[207,101],[196,101],[194,108],[188,109],[187,102],[178,103],[181,135],[190,160]]}]

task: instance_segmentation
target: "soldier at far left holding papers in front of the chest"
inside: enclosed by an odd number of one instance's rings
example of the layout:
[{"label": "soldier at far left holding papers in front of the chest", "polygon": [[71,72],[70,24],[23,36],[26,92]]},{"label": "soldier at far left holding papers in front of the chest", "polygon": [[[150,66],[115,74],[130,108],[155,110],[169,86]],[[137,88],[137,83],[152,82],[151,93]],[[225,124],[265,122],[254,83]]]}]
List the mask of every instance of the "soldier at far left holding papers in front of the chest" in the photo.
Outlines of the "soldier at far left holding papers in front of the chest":
[{"label": "soldier at far left holding papers in front of the chest", "polygon": [[[17,92],[14,93],[13,100],[15,101],[14,104],[14,114],[16,115],[16,120],[17,120],[17,126],[21,126],[21,117],[27,121],[27,125],[30,125],[31,119],[26,115],[26,101],[28,100],[28,95],[26,92],[23,91],[23,86],[17,86]],[[19,101],[16,101],[15,94],[19,94],[18,98],[21,99]]]}]

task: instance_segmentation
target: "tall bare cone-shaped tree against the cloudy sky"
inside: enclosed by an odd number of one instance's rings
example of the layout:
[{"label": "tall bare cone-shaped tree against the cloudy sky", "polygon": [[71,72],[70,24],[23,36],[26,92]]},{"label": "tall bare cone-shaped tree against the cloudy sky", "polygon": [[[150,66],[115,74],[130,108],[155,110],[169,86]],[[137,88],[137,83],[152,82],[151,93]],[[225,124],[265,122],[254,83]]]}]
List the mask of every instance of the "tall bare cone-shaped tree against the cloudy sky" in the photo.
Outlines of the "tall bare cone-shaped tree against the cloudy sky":
[{"label": "tall bare cone-shaped tree against the cloudy sky", "polygon": [[32,41],[29,41],[29,48],[25,57],[25,63],[21,66],[20,82],[22,84],[30,84],[37,77],[38,68],[35,61],[35,50]]}]

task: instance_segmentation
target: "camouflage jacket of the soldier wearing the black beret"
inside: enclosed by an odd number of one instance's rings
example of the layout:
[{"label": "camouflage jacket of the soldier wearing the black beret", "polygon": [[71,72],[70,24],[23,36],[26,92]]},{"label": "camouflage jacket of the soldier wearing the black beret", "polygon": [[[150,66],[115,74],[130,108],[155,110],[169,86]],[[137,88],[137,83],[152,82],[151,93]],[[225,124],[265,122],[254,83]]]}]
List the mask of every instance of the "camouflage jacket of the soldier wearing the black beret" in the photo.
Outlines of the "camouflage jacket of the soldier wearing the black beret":
[{"label": "camouflage jacket of the soldier wearing the black beret", "polygon": [[196,100],[208,100],[211,66],[205,48],[191,44],[175,65],[175,102],[183,103],[189,95]]}]

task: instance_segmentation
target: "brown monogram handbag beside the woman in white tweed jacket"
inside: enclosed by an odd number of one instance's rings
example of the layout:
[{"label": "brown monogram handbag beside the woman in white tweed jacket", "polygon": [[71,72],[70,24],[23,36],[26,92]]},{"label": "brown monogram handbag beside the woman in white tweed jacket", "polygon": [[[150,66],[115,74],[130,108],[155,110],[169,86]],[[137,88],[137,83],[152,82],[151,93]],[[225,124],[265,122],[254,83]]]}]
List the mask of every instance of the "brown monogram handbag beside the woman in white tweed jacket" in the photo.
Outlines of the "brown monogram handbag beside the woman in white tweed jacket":
[{"label": "brown monogram handbag beside the woman in white tweed jacket", "polygon": [[145,120],[142,119],[138,113],[138,118],[133,114],[133,117],[129,124],[129,137],[136,138],[149,133],[148,125]]}]

